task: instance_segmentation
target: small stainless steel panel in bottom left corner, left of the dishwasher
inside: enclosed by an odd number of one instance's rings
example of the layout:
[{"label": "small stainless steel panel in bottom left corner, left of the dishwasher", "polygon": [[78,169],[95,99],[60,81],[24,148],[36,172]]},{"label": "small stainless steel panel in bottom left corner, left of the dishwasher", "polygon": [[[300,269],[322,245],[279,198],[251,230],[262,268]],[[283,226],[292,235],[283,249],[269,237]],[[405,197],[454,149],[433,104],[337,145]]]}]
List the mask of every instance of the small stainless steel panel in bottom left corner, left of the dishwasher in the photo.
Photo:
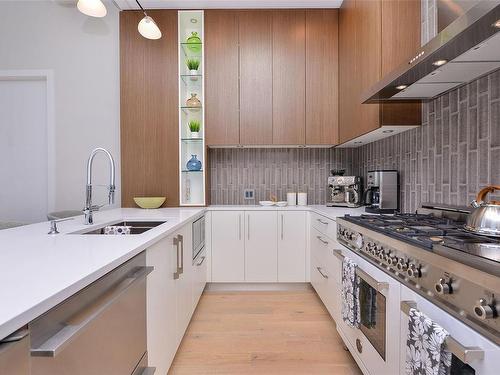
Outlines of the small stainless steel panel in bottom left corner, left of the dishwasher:
[{"label": "small stainless steel panel in bottom left corner, left of the dishwasher", "polygon": [[30,375],[30,338],[27,329],[20,330],[5,341],[0,340],[0,374]]}]

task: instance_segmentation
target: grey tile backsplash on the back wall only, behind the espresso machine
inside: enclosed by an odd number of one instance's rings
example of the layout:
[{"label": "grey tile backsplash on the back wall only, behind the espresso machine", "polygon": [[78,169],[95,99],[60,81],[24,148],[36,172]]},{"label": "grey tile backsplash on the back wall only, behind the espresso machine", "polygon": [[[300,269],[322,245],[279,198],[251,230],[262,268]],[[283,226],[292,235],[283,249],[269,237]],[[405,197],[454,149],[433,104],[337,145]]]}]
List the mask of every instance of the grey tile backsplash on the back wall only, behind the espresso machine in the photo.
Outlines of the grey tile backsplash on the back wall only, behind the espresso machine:
[{"label": "grey tile backsplash on the back wall only, behind the espresso machine", "polygon": [[[216,148],[209,149],[211,204],[258,204],[289,191],[307,192],[309,204],[325,202],[331,169],[354,171],[353,149]],[[255,189],[254,200],[243,190]]]}]

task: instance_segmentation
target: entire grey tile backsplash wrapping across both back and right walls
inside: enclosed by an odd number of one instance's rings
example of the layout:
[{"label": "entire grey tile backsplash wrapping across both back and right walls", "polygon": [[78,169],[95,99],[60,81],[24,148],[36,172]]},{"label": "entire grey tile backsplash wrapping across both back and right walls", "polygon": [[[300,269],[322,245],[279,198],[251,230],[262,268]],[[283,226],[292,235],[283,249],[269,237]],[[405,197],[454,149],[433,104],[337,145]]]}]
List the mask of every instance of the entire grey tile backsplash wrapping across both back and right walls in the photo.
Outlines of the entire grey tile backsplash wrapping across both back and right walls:
[{"label": "entire grey tile backsplash wrapping across both back and right walls", "polygon": [[[500,70],[423,106],[421,127],[357,149],[210,149],[212,204],[256,204],[287,191],[324,204],[330,169],[361,175],[400,173],[401,209],[422,202],[467,205],[486,185],[500,185]],[[255,200],[243,199],[255,189]]]}]

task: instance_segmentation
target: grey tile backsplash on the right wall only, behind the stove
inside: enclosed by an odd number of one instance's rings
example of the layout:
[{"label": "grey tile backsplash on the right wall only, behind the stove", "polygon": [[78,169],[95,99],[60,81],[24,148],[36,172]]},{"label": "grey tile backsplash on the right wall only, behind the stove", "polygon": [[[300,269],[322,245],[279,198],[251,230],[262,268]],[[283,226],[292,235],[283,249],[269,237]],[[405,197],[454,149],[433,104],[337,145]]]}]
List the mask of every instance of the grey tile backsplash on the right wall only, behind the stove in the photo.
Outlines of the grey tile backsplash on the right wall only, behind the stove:
[{"label": "grey tile backsplash on the right wall only, behind the stove", "polygon": [[356,173],[400,172],[401,208],[467,205],[500,184],[500,70],[427,102],[422,126],[359,148]]}]

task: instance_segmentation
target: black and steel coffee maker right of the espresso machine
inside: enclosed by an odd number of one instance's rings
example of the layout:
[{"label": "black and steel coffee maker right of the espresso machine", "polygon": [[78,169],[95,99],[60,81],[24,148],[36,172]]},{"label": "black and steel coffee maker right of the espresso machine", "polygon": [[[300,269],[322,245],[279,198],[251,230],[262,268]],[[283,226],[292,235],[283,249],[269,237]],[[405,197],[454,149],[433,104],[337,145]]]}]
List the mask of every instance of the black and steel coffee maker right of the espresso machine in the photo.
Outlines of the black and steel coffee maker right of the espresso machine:
[{"label": "black and steel coffee maker right of the espresso machine", "polygon": [[366,190],[363,194],[365,211],[392,214],[399,210],[398,171],[368,171]]}]

